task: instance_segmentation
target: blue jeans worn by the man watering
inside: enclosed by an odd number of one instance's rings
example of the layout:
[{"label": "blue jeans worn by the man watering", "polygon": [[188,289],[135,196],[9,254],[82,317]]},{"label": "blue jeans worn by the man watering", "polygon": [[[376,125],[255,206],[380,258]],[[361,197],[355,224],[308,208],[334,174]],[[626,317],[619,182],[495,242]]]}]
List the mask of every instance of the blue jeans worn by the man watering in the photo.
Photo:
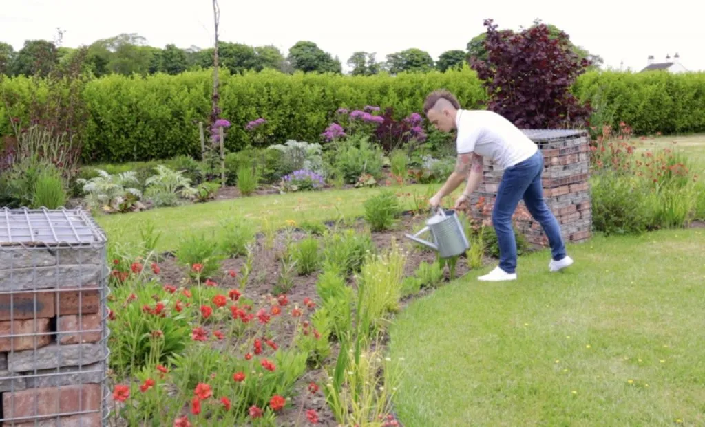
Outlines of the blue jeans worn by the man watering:
[{"label": "blue jeans worn by the man watering", "polygon": [[497,199],[492,209],[492,225],[497,233],[499,245],[499,267],[507,273],[517,268],[517,242],[512,226],[512,216],[521,199],[529,214],[541,224],[551,245],[551,256],[560,261],[565,258],[565,245],[560,235],[560,225],[544,201],[544,186],[541,173],[544,171],[544,155],[541,150],[529,159],[506,168],[497,190]]}]

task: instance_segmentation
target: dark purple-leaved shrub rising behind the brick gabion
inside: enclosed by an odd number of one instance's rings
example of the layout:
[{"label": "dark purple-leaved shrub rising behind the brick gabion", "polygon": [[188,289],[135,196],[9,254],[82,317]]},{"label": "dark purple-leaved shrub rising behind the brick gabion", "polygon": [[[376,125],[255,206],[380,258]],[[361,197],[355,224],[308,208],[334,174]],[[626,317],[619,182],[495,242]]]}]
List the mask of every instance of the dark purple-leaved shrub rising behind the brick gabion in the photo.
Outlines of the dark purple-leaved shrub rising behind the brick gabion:
[{"label": "dark purple-leaved shrub rising behind the brick gabion", "polygon": [[497,30],[492,20],[484,47],[487,61],[472,58],[471,66],[490,94],[487,108],[520,128],[557,129],[587,125],[590,109],[571,87],[589,61],[580,60],[565,32],[551,37],[548,26],[513,32]]}]

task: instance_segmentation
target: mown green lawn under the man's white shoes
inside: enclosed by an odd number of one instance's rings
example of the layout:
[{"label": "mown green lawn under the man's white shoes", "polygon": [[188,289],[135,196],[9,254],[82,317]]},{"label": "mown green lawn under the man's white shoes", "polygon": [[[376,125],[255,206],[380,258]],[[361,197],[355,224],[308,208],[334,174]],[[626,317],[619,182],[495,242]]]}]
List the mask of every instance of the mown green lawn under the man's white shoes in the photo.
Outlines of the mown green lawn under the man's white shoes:
[{"label": "mown green lawn under the man's white shoes", "polygon": [[703,247],[697,229],[594,237],[564,273],[544,251],[513,283],[475,273],[413,302],[391,329],[400,421],[705,425]]}]

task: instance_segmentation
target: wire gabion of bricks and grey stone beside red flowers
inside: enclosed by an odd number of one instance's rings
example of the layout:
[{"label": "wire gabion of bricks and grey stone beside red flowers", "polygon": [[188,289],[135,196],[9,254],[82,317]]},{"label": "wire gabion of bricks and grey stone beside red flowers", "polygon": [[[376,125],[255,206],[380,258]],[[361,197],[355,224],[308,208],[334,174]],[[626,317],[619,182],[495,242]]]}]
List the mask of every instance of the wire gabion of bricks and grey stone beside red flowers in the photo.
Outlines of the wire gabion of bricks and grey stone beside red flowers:
[{"label": "wire gabion of bricks and grey stone beside red flowers", "polygon": [[106,426],[106,237],[85,211],[0,210],[0,425]]}]

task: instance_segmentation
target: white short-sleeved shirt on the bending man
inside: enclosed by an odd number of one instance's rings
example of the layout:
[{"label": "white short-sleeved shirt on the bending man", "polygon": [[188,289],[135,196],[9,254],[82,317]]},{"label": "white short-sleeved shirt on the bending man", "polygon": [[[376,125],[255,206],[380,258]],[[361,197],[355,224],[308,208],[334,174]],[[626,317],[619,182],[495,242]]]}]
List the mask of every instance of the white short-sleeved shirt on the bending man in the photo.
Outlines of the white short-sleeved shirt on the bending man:
[{"label": "white short-sleeved shirt on the bending man", "polygon": [[529,159],[539,149],[512,122],[493,111],[458,110],[455,125],[458,154],[474,151],[503,168]]}]

